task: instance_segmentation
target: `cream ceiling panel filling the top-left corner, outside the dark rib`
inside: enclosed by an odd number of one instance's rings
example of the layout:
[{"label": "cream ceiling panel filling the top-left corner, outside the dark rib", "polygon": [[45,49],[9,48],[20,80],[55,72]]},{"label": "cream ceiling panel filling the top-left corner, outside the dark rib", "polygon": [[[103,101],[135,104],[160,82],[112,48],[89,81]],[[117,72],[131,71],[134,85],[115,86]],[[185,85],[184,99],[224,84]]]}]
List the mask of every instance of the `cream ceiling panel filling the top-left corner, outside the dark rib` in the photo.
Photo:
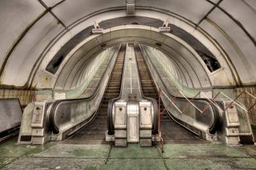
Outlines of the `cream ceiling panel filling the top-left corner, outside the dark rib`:
[{"label": "cream ceiling panel filling the top-left corner, outside the dark rib", "polygon": [[38,1],[0,1],[0,67],[18,36],[44,10],[45,8]]}]

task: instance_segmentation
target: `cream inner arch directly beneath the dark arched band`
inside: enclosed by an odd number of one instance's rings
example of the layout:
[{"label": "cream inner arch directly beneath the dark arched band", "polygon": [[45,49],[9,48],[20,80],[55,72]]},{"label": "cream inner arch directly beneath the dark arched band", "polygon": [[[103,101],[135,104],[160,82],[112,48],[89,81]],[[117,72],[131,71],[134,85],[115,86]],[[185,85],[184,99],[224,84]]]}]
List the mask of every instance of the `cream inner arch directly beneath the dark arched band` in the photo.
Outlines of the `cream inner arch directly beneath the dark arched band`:
[{"label": "cream inner arch directly beneath the dark arched band", "polygon": [[[109,29],[106,29],[105,34],[99,35],[88,42],[82,42],[83,45],[72,54],[72,57],[64,62],[65,66],[60,69],[57,87],[61,88],[63,86],[61,84],[68,78],[68,73],[79,69],[77,68],[79,62],[90,58],[90,56],[95,55],[95,53],[97,54],[97,52],[102,49],[102,45],[111,47],[124,42],[143,43],[163,50],[166,54],[172,55],[170,57],[179,63],[179,66],[185,67],[186,72],[189,72],[189,75],[195,80],[196,88],[211,86],[211,81],[207,74],[209,72],[205,72],[205,65],[202,59],[200,59],[200,56],[194,56],[196,52],[193,53],[189,49],[186,49],[186,47],[178,42],[178,40],[175,40],[175,38],[166,37],[166,35],[157,33],[156,31],[156,28],[151,27],[150,30],[148,26],[127,25],[112,27],[111,32]],[[161,47],[156,44],[161,44]],[[200,62],[198,62],[198,60],[200,60]]]}]

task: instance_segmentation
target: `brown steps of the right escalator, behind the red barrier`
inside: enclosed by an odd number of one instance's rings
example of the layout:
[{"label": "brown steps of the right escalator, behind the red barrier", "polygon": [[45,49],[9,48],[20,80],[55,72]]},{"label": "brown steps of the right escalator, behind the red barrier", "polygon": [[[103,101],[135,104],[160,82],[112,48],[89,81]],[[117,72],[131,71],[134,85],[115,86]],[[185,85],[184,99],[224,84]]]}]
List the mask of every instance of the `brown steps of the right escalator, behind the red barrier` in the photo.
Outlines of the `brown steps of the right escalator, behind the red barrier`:
[{"label": "brown steps of the right escalator, behind the red barrier", "polygon": [[[135,53],[136,53],[136,60],[138,63],[138,70],[140,73],[140,80],[141,80],[141,87],[143,91],[143,95],[145,97],[155,98],[157,100],[157,103],[159,101],[158,98],[158,92],[156,89],[156,85],[154,84],[154,81],[152,79],[152,76],[150,75],[150,71],[148,70],[148,66],[145,63],[145,60],[142,56],[140,47],[138,45],[135,46]],[[164,105],[161,102],[161,111],[164,110]],[[202,142],[201,139],[196,137],[191,132],[188,132],[188,130],[185,130],[184,128],[180,127],[175,121],[168,116],[167,112],[164,112],[161,115],[160,120],[160,130],[161,135],[165,142],[168,141],[174,141],[177,143],[180,142]]]}]

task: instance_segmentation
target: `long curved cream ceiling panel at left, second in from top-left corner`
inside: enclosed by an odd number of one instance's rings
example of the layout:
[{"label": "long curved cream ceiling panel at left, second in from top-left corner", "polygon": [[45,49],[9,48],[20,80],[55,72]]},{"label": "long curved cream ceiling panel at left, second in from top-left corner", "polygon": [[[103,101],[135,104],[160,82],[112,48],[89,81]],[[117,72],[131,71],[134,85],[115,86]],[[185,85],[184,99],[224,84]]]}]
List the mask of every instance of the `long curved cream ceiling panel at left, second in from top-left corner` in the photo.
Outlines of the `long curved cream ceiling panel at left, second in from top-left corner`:
[{"label": "long curved cream ceiling panel at left, second in from top-left corner", "polygon": [[50,13],[36,22],[10,56],[3,83],[24,86],[41,52],[61,30],[63,30],[63,26],[58,24],[58,21]]}]

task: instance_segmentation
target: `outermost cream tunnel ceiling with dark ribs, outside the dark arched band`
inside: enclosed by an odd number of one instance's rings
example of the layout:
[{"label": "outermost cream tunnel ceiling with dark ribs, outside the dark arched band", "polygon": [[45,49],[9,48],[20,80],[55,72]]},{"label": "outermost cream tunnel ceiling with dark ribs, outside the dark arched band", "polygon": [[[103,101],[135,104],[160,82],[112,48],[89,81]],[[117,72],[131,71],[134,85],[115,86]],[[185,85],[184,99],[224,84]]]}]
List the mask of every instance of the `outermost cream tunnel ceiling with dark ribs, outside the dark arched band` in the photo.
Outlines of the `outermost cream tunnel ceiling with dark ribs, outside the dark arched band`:
[{"label": "outermost cream tunnel ceiling with dark ribs, outside the dark arched band", "polygon": [[[182,36],[189,33],[204,44],[221,66],[230,66],[236,85],[256,84],[255,1],[137,0],[135,4],[136,16],[161,22],[168,19],[173,35],[182,29],[186,31]],[[126,2],[119,0],[3,0],[0,16],[0,39],[4,42],[0,44],[1,86],[24,88],[39,71],[47,74],[45,68],[53,56],[94,20],[107,28],[111,26],[104,26],[104,21],[127,17]],[[113,23],[122,25],[125,19]]]}]

